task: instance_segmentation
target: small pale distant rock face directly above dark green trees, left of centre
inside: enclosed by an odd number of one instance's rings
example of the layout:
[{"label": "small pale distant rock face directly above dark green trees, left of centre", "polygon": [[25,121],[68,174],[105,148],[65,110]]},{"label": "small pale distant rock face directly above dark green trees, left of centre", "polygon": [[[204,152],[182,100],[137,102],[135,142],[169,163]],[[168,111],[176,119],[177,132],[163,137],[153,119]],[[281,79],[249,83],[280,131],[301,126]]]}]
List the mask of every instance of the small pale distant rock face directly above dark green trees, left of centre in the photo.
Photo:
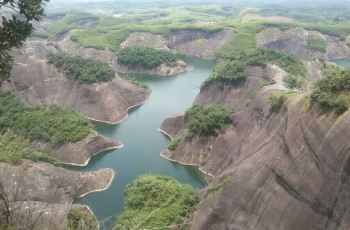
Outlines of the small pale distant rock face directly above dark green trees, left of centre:
[{"label": "small pale distant rock face directly above dark green trees, left of centre", "polygon": [[134,32],[120,45],[122,48],[130,46],[145,46],[154,49],[169,50],[167,40],[161,35],[144,32]]}]

